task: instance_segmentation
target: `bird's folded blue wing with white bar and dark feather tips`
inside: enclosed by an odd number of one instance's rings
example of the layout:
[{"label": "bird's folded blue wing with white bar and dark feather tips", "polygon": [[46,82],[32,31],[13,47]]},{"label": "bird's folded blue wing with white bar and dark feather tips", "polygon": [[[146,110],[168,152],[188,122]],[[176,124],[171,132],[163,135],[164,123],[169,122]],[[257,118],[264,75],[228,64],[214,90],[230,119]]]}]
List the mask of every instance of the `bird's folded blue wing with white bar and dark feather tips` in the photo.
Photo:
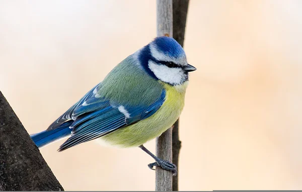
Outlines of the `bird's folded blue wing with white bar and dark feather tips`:
[{"label": "bird's folded blue wing with white bar and dark feather tips", "polygon": [[102,137],[119,128],[148,118],[160,109],[165,102],[166,91],[163,89],[161,97],[152,105],[120,105],[100,97],[97,93],[99,86],[101,85],[94,87],[74,105],[75,107],[72,106],[53,123],[54,125],[60,125],[62,121],[73,120],[70,125],[72,135],[60,146],[59,151]]}]

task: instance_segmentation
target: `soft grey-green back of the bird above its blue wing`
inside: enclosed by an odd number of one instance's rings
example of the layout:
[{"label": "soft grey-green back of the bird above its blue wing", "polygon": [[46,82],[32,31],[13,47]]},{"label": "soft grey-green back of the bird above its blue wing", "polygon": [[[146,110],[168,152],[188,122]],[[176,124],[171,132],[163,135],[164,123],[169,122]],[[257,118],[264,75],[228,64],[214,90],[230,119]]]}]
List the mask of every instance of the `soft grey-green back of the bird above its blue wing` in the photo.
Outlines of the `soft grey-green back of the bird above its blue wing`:
[{"label": "soft grey-green back of the bird above its blue wing", "polygon": [[150,77],[133,55],[120,62],[101,82],[98,93],[120,105],[149,106],[162,93],[163,85]]}]

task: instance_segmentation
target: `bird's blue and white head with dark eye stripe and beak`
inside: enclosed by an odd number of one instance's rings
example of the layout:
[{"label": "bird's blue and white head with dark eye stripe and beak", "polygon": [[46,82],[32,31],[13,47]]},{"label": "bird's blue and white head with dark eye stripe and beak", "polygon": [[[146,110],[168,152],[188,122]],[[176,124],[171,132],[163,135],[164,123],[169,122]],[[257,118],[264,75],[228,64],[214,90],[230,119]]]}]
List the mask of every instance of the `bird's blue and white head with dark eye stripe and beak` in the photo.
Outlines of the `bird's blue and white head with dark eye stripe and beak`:
[{"label": "bird's blue and white head with dark eye stripe and beak", "polygon": [[171,37],[158,37],[139,51],[138,59],[152,77],[171,85],[183,84],[188,72],[196,68],[189,65],[181,45]]}]

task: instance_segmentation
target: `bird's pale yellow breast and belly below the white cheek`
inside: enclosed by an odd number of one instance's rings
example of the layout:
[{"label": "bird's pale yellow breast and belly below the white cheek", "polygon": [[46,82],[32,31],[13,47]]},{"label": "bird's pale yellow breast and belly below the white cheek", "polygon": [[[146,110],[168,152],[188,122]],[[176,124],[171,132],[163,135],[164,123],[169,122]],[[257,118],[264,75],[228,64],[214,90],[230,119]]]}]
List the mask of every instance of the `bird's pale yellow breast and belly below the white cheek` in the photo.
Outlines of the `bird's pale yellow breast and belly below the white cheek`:
[{"label": "bird's pale yellow breast and belly below the white cheek", "polygon": [[164,84],[166,100],[152,116],[128,127],[118,129],[100,139],[119,147],[137,147],[160,136],[179,118],[183,108],[188,81],[182,85]]}]

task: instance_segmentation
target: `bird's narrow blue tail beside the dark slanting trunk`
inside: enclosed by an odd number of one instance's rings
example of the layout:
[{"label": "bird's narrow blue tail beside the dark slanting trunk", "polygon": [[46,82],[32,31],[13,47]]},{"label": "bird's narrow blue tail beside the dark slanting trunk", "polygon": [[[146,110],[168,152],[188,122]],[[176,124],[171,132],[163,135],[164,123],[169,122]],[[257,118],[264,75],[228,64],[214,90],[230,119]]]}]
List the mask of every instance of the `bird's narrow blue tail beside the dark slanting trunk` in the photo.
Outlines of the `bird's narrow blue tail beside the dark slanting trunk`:
[{"label": "bird's narrow blue tail beside the dark slanting trunk", "polygon": [[69,126],[72,124],[72,122],[73,121],[65,122],[54,130],[42,131],[41,133],[33,134],[30,137],[35,142],[37,147],[43,147],[44,145],[70,135],[72,129],[70,129]]}]

